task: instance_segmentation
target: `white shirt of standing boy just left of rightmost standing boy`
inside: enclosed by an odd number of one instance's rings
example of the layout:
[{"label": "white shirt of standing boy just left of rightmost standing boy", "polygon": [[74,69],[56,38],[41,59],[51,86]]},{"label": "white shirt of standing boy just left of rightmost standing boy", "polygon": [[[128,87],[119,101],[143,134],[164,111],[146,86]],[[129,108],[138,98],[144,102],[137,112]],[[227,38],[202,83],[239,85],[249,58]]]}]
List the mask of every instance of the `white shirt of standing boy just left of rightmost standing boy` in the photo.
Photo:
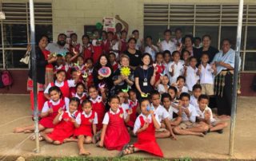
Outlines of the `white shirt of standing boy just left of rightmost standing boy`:
[{"label": "white shirt of standing boy just left of rightmost standing boy", "polygon": [[186,87],[189,91],[192,91],[194,84],[197,84],[199,80],[197,72],[198,68],[193,69],[191,66],[188,66],[186,69]]}]

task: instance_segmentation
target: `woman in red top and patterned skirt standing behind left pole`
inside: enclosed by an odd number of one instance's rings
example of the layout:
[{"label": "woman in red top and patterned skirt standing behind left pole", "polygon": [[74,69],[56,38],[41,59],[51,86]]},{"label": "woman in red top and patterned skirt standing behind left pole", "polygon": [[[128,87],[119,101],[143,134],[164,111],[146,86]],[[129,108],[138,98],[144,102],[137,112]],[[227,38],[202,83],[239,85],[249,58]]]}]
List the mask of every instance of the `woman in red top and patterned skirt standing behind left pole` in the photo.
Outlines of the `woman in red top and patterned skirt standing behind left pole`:
[{"label": "woman in red top and patterned skirt standing behind left pole", "polygon": [[[57,60],[57,57],[49,57],[50,51],[46,50],[46,46],[48,45],[49,38],[46,35],[42,35],[39,38],[38,46],[35,48],[36,54],[36,64],[37,64],[37,83],[38,83],[38,109],[41,111],[43,104],[46,99],[43,95],[43,91],[46,86],[54,81],[53,74],[53,63]],[[32,76],[32,68],[29,71],[29,77],[27,81],[27,89],[30,91],[30,103],[32,110],[34,109],[34,97],[33,97],[33,76]]]}]

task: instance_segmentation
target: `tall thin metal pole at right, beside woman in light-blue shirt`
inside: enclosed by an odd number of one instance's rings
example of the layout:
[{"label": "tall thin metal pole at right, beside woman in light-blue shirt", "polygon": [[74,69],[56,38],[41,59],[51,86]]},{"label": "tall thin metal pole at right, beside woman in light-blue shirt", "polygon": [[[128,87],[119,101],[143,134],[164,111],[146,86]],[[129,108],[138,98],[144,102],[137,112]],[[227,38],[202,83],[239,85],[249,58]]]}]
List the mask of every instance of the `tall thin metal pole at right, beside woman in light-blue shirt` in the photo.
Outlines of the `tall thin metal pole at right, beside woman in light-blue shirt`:
[{"label": "tall thin metal pole at right, beside woman in light-blue shirt", "polygon": [[239,0],[239,13],[238,13],[238,30],[237,30],[237,42],[235,49],[235,61],[234,61],[234,86],[232,93],[232,106],[231,106],[231,123],[230,123],[230,156],[234,153],[234,126],[237,112],[237,89],[238,89],[238,70],[239,70],[239,55],[242,35],[242,11],[243,0]]}]

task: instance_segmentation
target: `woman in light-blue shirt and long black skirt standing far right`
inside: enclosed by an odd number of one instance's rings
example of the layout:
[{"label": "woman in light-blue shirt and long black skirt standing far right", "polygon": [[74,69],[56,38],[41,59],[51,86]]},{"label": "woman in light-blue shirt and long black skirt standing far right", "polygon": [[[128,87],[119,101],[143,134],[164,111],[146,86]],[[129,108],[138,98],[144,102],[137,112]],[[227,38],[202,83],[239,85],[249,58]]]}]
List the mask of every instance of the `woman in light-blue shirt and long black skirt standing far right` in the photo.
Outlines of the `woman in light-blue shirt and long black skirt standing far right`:
[{"label": "woman in light-blue shirt and long black skirt standing far right", "polygon": [[230,40],[222,41],[222,50],[214,56],[212,64],[216,65],[217,73],[214,78],[214,92],[218,115],[231,114],[232,87],[234,75],[235,52],[230,49]]}]

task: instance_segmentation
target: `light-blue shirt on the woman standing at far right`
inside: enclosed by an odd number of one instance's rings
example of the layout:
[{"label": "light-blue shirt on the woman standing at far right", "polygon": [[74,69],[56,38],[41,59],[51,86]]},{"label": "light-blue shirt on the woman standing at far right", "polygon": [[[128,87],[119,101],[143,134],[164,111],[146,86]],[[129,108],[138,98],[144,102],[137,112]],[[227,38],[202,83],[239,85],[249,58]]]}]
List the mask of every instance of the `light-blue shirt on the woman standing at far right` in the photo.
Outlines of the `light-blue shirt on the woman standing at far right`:
[{"label": "light-blue shirt on the woman standing at far right", "polygon": [[[223,51],[220,50],[219,53],[217,53],[214,56],[214,60],[211,62],[211,64],[213,64],[215,61],[222,61],[226,64],[231,65],[234,68],[234,57],[235,57],[235,51],[234,49],[230,49],[227,53],[223,54]],[[239,60],[240,61],[240,60]],[[240,63],[239,63],[240,64]],[[226,67],[222,66],[222,65],[216,65],[216,69],[217,69],[217,75],[218,73],[221,73],[222,70],[225,70]]]}]

